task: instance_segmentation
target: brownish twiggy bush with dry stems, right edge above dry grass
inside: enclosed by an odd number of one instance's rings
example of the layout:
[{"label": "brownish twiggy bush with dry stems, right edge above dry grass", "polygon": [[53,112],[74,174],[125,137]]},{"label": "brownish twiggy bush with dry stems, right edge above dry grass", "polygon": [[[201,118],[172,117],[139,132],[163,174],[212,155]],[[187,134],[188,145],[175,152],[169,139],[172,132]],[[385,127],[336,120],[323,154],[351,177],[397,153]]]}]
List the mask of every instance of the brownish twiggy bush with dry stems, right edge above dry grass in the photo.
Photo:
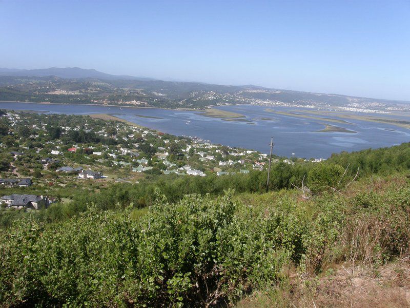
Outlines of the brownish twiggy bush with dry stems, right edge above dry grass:
[{"label": "brownish twiggy bush with dry stems, right edge above dry grass", "polygon": [[355,214],[346,222],[347,259],[378,265],[410,254],[410,187],[392,185],[377,194],[363,192],[353,200]]}]

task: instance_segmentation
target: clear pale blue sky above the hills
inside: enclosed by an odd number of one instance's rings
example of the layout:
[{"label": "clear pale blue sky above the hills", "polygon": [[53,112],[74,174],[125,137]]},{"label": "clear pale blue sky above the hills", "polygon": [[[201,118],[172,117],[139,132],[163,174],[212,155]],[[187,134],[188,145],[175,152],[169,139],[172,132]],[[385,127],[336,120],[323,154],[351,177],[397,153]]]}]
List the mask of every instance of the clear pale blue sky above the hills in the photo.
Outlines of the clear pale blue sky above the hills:
[{"label": "clear pale blue sky above the hills", "polygon": [[410,0],[0,0],[0,67],[410,101]]}]

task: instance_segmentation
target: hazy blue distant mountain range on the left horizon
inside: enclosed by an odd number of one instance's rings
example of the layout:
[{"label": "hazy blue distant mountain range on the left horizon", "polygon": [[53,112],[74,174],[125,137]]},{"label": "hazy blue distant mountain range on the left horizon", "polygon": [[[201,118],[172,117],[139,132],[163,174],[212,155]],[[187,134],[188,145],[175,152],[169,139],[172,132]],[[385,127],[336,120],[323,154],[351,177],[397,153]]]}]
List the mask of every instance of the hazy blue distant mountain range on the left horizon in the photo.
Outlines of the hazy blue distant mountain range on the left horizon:
[{"label": "hazy blue distant mountain range on the left horizon", "polygon": [[15,69],[15,68],[0,68],[1,76],[57,76],[59,78],[97,78],[107,80],[153,80],[150,78],[135,77],[128,75],[111,75],[99,72],[95,69],[84,69],[79,67],[50,67],[42,69]]}]

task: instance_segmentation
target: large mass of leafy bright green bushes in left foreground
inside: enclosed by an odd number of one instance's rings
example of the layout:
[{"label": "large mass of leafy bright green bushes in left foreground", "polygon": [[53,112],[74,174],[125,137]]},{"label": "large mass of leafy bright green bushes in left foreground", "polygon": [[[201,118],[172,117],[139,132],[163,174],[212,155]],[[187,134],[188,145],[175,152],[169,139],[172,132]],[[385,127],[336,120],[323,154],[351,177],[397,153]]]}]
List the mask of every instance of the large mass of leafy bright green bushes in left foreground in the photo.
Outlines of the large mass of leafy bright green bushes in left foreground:
[{"label": "large mass of leafy bright green bushes in left foreground", "polygon": [[[305,220],[291,199],[265,210],[190,195],[159,196],[133,220],[95,207],[58,224],[19,220],[0,244],[0,302],[6,306],[215,306],[281,279],[284,263],[331,244],[334,226]],[[329,210],[323,209],[329,217]],[[313,218],[316,220],[316,218]],[[323,235],[322,230],[326,229]],[[315,244],[315,251],[307,245]]]}]

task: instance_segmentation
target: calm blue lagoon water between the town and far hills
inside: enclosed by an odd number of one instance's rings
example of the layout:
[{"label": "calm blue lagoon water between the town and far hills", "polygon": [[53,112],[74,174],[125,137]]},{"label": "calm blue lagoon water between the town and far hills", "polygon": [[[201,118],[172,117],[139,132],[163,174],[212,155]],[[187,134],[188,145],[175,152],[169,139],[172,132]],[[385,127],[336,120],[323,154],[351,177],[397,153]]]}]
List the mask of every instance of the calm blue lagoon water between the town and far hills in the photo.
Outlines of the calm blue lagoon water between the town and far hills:
[{"label": "calm blue lagoon water between the town and far hills", "polygon": [[[0,109],[48,111],[65,114],[109,113],[142,126],[177,136],[196,136],[212,143],[269,151],[274,137],[274,153],[280,156],[327,158],[333,152],[356,151],[365,148],[392,146],[410,141],[410,130],[394,125],[359,120],[339,124],[314,119],[302,119],[265,111],[303,111],[286,107],[254,105],[223,106],[219,109],[245,115],[249,122],[228,122],[204,117],[196,111],[179,111],[154,108],[107,107],[92,105],[61,105],[0,102]],[[363,115],[363,114],[361,114]],[[376,114],[370,114],[376,115]],[[155,118],[144,118],[155,117]],[[377,117],[386,115],[377,114]],[[388,115],[388,117],[392,117]],[[269,118],[270,120],[266,120]],[[336,117],[333,117],[336,119]],[[408,120],[406,117],[395,117]],[[264,119],[264,120],[262,120]],[[323,123],[357,131],[357,133],[317,132]]]}]

